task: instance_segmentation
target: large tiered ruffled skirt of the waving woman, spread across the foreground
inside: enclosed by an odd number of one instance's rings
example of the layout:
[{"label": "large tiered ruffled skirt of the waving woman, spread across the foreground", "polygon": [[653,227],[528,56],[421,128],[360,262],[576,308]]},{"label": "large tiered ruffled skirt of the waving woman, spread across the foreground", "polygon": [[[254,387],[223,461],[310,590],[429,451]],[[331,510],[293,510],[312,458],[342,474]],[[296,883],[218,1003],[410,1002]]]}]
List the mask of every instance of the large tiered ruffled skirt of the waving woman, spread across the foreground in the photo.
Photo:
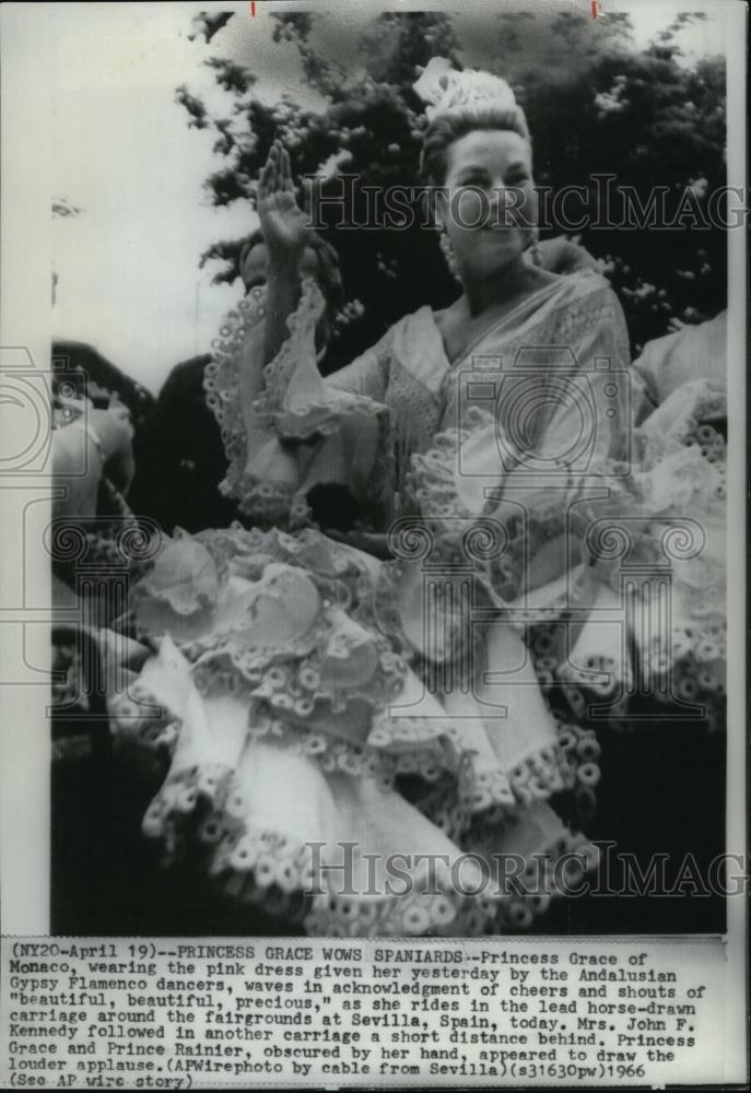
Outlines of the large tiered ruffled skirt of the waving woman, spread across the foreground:
[{"label": "large tiered ruffled skirt of the waving woman, spread across the foreground", "polygon": [[[551,807],[588,802],[594,732],[558,722],[529,669],[506,689],[426,683],[404,580],[315,531],[166,546],[133,590],[159,651],[110,713],[120,751],[163,779],[143,831],[167,862],[349,936],[524,928],[594,866]],[[504,627],[478,644],[483,671],[521,648]]]}]

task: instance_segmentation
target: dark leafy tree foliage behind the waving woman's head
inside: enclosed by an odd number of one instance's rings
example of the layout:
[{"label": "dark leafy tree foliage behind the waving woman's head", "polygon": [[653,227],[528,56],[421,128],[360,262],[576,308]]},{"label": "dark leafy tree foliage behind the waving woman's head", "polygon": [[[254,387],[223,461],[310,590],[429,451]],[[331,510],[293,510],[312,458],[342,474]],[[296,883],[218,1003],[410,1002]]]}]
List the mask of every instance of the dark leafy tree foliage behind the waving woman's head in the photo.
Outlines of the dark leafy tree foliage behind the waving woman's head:
[{"label": "dark leafy tree foliage behind the waving woman's head", "polygon": [[[190,126],[216,134],[220,164],[206,181],[214,204],[253,204],[269,146],[280,138],[295,178],[321,167],[331,175],[325,196],[341,193],[338,174],[357,177],[354,222],[362,223],[368,187],[418,181],[425,119],[412,84],[419,66],[449,57],[457,67],[481,63],[515,87],[533,137],[539,185],[553,192],[584,186],[596,196],[595,176],[610,175],[617,188],[633,188],[643,208],[658,187],[669,193],[671,210],[683,208],[687,195],[691,199],[694,215],[671,231],[590,224],[582,232],[621,297],[635,351],[725,306],[725,232],[696,226],[697,215],[708,223],[709,196],[725,184],[724,60],[688,64],[680,47],[682,27],[701,16],[679,14],[639,51],[627,16],[592,27],[578,13],[506,13],[465,43],[446,15],[388,12],[374,19],[347,67],[319,45],[316,32],[325,16],[273,17],[273,40],[296,49],[302,81],[325,105],[313,109],[286,94],[268,105],[249,68],[237,59],[209,58],[218,83],[233,96],[232,117],[211,116],[185,86],[177,96]],[[207,40],[218,30],[212,24]],[[590,220],[598,211],[606,219],[603,209],[590,204],[587,211]],[[339,216],[336,209],[325,214],[324,234],[339,252],[351,306],[338,325],[333,366],[400,315],[425,303],[442,306],[457,291],[431,230],[418,223],[403,231],[347,231],[336,226]],[[219,263],[216,281],[237,277],[240,244],[220,240],[202,256],[202,263]]]}]

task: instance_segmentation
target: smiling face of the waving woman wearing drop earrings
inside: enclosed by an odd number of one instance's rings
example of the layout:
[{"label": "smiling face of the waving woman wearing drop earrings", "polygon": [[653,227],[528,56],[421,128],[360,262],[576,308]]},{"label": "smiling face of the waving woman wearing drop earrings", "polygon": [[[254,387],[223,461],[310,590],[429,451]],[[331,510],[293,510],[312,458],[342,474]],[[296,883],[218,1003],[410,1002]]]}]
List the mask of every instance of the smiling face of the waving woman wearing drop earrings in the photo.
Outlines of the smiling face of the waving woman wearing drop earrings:
[{"label": "smiling face of the waving woman wearing drop earrings", "polygon": [[476,130],[448,149],[436,201],[462,280],[501,272],[530,244],[537,222],[531,150],[509,130]]}]

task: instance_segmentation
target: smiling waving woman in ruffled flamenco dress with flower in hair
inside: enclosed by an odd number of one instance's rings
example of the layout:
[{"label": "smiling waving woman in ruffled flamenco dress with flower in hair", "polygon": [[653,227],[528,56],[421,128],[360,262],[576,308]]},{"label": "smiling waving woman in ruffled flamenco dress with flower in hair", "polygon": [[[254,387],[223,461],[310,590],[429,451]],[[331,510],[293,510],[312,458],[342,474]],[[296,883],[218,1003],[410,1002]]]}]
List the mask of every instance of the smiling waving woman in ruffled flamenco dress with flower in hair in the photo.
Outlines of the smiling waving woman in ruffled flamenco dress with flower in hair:
[{"label": "smiling waving woman in ruffled flamenco dress with flower in hair", "polygon": [[[577,506],[591,515],[605,474],[605,512],[625,492],[625,326],[599,275],[528,261],[511,89],[434,75],[418,84],[434,103],[423,166],[461,295],[324,380],[322,298],[300,292],[307,236],[275,151],[268,289],[230,317],[207,389],[228,489],[259,524],[303,530],[178,539],[134,590],[139,634],[160,643],[137,693],[164,716],[126,704],[120,734],[171,757],[144,830],[310,933],[526,926],[576,873],[559,868],[570,851],[579,873],[592,860],[550,801],[578,787],[590,804],[598,744],[551,715],[524,630],[568,607]],[[304,527],[312,485],[332,481],[371,527],[398,517],[357,540],[373,553]]]}]

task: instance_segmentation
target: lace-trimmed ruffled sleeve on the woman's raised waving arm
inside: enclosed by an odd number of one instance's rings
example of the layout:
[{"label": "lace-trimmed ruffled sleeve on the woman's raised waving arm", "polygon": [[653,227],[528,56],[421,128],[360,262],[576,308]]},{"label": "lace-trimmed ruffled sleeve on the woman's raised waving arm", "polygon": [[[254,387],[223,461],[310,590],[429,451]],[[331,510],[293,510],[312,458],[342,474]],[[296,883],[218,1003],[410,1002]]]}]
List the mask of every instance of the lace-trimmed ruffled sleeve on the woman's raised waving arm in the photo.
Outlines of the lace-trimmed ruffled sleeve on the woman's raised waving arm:
[{"label": "lace-trimmed ruffled sleeve on the woman's raised waving arm", "polygon": [[319,483],[347,486],[366,506],[388,496],[388,415],[377,401],[383,350],[342,369],[343,385],[342,373],[324,379],[315,345],[322,308],[317,285],[305,280],[290,337],[263,367],[266,292],[255,289],[227,317],[207,366],[207,402],[230,463],[221,489],[263,526],[305,522],[306,494]]}]

